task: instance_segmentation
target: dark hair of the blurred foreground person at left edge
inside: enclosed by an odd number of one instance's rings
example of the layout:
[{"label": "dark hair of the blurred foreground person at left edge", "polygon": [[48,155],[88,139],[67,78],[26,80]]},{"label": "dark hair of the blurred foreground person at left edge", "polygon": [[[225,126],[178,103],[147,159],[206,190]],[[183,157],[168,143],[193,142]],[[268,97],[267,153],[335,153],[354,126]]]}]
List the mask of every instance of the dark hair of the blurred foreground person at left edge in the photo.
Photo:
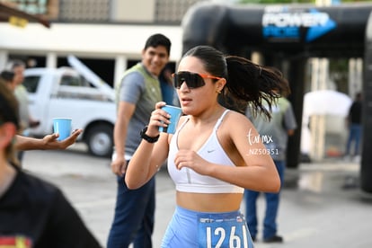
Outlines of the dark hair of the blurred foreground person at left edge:
[{"label": "dark hair of the blurred foreground person at left edge", "polygon": [[[12,122],[17,129],[20,128],[18,119],[18,102],[14,94],[6,87],[0,84],[0,123]],[[13,143],[5,148],[7,159],[13,164],[19,164],[14,153]]]}]

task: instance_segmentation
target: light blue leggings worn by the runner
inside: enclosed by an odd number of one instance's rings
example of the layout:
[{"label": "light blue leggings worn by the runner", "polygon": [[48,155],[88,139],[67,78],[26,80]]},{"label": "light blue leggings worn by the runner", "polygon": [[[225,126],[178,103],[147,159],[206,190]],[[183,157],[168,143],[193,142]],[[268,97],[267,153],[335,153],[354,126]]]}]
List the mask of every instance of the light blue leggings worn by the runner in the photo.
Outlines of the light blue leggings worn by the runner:
[{"label": "light blue leggings worn by the runner", "polygon": [[[245,237],[243,235],[236,235],[234,236],[234,239],[239,239],[242,241],[241,248],[252,248],[252,238],[248,231],[248,227],[245,223],[245,220],[243,216],[240,214],[239,211],[234,212],[228,212],[228,213],[200,213],[192,210],[188,210],[181,207],[176,207],[173,218],[171,222],[169,223],[165,235],[162,241],[162,248],[199,248],[199,247],[207,247],[208,245],[200,245],[199,244],[199,219],[200,216],[208,216],[208,219],[221,219],[221,218],[228,218],[234,217],[235,219],[239,219],[238,225],[244,226],[245,228]],[[214,222],[218,223],[218,222]],[[230,228],[231,226],[227,226],[227,228]],[[213,234],[218,234],[217,239],[220,238],[219,233],[216,230],[220,230],[219,227],[214,227],[215,232],[212,232]],[[226,235],[228,236],[231,232],[227,230]],[[237,233],[236,233],[237,234]],[[227,243],[228,240],[231,239],[229,237],[226,237]],[[243,240],[246,241],[246,246],[244,246]],[[224,244],[226,244],[226,242]],[[215,246],[211,246],[215,247]],[[225,245],[221,247],[226,247]]]}]

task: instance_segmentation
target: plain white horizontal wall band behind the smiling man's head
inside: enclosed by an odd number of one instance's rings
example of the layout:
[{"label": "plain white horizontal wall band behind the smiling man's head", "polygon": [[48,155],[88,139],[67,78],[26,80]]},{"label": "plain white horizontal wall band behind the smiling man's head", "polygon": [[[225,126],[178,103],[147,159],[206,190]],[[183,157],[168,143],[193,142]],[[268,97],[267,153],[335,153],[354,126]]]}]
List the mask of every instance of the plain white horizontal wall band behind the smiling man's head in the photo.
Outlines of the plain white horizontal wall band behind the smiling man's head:
[{"label": "plain white horizontal wall band behind the smiling man's head", "polygon": [[[38,23],[19,28],[0,23],[0,54],[58,56],[73,54],[85,58],[141,58],[146,39],[157,32],[172,41],[171,61],[182,56],[182,28],[155,25],[110,25],[52,23],[47,29]],[[0,56],[0,60],[4,56]],[[0,61],[3,65],[4,61]]]}]

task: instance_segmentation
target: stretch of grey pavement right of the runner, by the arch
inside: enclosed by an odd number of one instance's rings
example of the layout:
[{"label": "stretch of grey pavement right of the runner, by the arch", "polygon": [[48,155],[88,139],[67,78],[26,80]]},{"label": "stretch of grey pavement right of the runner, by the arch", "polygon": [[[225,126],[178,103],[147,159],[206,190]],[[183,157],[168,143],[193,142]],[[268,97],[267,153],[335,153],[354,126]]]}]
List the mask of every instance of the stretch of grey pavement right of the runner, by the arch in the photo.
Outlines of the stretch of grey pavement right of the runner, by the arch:
[{"label": "stretch of grey pavement right of the runner, by the arch", "polygon": [[[372,201],[359,190],[359,164],[300,164],[286,177],[278,218],[284,244],[258,242],[256,248],[372,247]],[[262,219],[263,198],[258,208]]]}]

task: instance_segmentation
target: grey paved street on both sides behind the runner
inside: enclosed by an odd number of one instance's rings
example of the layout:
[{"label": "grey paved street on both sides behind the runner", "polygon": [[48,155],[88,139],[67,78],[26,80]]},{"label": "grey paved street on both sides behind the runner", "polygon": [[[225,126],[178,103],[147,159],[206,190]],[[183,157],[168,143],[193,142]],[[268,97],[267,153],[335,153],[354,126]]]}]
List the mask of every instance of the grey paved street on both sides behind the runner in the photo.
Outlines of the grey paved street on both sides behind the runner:
[{"label": "grey paved street on both sides behind the runner", "polygon": [[[65,192],[102,245],[109,233],[116,193],[109,164],[109,159],[87,155],[83,145],[66,151],[28,151],[23,162],[26,170]],[[285,243],[263,244],[259,236],[256,248],[372,247],[372,200],[359,190],[359,164],[338,160],[300,164],[286,175],[279,209],[279,235]],[[165,170],[156,180],[154,247],[159,247],[173,214],[174,187]],[[264,208],[260,198],[261,218]]]}]

